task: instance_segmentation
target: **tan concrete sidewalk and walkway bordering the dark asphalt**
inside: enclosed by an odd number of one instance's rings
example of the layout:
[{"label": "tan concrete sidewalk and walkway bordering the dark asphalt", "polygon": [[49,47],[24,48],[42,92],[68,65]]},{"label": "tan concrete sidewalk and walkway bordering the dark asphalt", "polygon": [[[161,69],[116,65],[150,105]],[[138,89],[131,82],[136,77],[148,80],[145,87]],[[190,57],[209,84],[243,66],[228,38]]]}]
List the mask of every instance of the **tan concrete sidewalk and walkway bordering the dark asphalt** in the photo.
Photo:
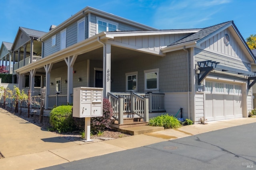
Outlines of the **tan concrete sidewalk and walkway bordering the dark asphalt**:
[{"label": "tan concrete sidewalk and walkway bordering the dark asphalt", "polygon": [[70,142],[49,131],[0,110],[1,170],[34,170],[74,160],[133,149],[199,133],[256,122],[256,118],[238,118],[196,124],[109,141]]}]

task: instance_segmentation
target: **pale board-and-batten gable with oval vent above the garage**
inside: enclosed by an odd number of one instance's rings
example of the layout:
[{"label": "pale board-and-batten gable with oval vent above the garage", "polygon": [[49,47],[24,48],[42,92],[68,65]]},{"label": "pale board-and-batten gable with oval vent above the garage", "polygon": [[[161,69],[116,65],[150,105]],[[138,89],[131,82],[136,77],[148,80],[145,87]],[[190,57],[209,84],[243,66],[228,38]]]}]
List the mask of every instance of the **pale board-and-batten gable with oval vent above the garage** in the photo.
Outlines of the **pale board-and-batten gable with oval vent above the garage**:
[{"label": "pale board-and-batten gable with oval vent above the garage", "polygon": [[[224,42],[224,36],[225,34],[228,34],[229,36],[229,44],[226,45]],[[244,61],[248,61],[246,58],[245,53],[242,51],[240,46],[238,45],[236,39],[232,35],[232,33],[229,31],[229,29],[225,29],[218,33],[217,35],[214,35],[210,39],[204,41],[201,43],[202,49],[210,49],[213,51],[218,51],[220,53],[239,58]]]}]

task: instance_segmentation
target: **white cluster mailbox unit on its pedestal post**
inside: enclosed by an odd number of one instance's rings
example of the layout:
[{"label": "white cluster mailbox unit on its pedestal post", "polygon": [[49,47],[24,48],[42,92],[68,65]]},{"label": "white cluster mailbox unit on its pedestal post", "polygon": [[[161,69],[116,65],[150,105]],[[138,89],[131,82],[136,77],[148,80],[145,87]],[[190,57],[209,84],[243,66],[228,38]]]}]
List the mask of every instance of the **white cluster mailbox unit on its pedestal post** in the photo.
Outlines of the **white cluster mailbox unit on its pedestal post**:
[{"label": "white cluster mailbox unit on its pedestal post", "polygon": [[102,116],[103,88],[78,87],[73,89],[73,117],[85,118],[84,138],[90,139],[91,117]]}]

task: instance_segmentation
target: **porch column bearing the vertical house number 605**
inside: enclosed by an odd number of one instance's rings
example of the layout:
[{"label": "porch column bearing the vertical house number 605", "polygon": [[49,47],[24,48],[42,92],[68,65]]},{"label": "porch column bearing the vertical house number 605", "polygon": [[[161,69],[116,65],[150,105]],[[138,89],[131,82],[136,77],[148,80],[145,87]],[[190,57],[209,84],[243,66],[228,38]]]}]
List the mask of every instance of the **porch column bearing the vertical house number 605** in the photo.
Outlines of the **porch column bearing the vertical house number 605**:
[{"label": "porch column bearing the vertical house number 605", "polygon": [[108,92],[110,92],[110,80],[111,80],[111,45],[106,44],[104,51],[105,58],[103,57],[103,95],[106,98]]}]

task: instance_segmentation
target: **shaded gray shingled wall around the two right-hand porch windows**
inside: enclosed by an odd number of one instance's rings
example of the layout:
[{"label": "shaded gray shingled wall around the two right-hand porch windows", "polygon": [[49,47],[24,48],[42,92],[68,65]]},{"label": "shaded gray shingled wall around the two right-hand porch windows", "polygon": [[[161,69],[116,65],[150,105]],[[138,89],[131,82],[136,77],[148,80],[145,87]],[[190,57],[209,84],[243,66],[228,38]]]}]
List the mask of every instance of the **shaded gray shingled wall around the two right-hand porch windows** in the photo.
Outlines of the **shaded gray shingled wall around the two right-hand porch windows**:
[{"label": "shaded gray shingled wall around the two right-hand porch windows", "polygon": [[138,52],[122,63],[115,61],[111,64],[111,91],[125,92],[125,74],[138,72],[138,92],[145,92],[144,70],[159,68],[159,92],[187,92],[187,59],[186,51],[180,50],[165,57]]}]

